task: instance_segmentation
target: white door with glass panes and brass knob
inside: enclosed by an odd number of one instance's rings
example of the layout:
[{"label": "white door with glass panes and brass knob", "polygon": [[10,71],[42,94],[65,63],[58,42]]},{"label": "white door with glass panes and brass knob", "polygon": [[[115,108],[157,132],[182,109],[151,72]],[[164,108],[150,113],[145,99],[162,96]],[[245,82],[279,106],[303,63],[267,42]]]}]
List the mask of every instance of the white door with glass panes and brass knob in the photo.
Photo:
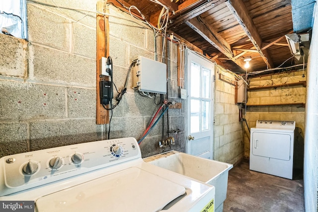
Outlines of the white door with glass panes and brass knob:
[{"label": "white door with glass panes and brass knob", "polygon": [[187,49],[187,153],[213,159],[214,64]]}]

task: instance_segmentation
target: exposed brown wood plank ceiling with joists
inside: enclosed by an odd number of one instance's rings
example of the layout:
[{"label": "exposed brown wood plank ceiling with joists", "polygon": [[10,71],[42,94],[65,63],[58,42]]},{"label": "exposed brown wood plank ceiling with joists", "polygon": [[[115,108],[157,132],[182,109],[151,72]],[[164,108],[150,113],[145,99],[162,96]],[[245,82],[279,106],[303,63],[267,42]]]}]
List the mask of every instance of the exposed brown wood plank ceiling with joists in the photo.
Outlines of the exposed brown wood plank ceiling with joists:
[{"label": "exposed brown wood plank ceiling with joists", "polygon": [[[162,8],[152,0],[107,2],[126,10],[134,5],[153,25],[157,25]],[[204,55],[226,69],[245,72],[244,59],[247,57],[251,57],[248,72],[273,69],[288,59],[281,67],[297,63],[291,58],[293,55],[285,39],[286,34],[293,33],[291,0],[159,2],[169,7],[168,31],[200,48]]]}]

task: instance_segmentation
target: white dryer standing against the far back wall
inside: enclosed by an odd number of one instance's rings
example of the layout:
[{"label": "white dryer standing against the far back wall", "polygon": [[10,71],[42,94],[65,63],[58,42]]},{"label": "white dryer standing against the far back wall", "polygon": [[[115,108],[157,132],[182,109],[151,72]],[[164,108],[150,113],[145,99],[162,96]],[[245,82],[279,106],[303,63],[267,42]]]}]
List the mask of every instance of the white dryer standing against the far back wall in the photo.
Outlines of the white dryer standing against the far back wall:
[{"label": "white dryer standing against the far back wall", "polygon": [[249,169],[293,179],[295,124],[257,120],[250,129]]}]

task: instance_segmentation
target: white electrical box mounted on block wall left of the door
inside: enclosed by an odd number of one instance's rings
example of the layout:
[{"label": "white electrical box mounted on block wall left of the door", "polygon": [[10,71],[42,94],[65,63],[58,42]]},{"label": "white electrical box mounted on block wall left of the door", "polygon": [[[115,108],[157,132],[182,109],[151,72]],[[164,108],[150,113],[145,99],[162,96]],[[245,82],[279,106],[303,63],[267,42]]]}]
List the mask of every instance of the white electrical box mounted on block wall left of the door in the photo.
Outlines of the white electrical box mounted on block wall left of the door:
[{"label": "white electrical box mounted on block wall left of the door", "polygon": [[142,56],[134,68],[134,89],[151,93],[167,93],[166,65]]}]

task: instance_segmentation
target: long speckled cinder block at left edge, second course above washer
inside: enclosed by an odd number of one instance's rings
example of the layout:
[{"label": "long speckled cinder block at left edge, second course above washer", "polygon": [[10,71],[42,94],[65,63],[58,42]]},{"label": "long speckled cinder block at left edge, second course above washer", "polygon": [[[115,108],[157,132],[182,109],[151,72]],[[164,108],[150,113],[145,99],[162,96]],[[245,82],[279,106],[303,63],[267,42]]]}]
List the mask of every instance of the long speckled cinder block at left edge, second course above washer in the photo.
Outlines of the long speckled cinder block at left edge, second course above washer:
[{"label": "long speckled cinder block at left edge, second course above washer", "polygon": [[65,88],[18,81],[0,83],[0,120],[65,117]]}]

